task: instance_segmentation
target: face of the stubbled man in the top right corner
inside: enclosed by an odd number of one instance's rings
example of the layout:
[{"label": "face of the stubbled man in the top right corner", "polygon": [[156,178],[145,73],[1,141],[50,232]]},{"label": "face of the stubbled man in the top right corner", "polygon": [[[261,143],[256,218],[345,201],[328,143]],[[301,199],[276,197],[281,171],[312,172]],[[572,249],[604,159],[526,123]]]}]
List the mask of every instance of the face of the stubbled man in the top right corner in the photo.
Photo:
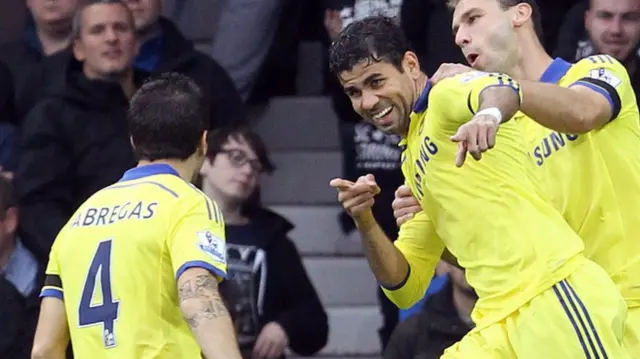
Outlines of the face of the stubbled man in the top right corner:
[{"label": "face of the stubbled man in the top right corner", "polygon": [[599,53],[625,61],[640,41],[640,0],[591,0],[585,28]]}]

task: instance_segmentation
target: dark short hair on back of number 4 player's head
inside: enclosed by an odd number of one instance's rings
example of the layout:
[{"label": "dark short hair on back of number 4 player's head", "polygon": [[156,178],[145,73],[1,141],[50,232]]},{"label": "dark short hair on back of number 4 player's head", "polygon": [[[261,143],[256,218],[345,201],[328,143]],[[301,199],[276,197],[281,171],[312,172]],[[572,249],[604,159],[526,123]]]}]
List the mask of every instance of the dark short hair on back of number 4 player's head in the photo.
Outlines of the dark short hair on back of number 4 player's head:
[{"label": "dark short hair on back of number 4 player's head", "polygon": [[200,88],[177,73],[150,79],[131,99],[129,128],[139,159],[189,158],[207,129]]}]

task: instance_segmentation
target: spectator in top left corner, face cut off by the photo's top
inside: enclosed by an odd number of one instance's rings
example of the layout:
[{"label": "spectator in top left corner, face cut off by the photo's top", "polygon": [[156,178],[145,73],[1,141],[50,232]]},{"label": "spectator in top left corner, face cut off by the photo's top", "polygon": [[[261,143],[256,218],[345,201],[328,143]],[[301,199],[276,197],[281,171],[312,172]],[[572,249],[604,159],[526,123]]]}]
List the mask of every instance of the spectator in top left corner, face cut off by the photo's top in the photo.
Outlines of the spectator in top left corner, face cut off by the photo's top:
[{"label": "spectator in top left corner, face cut off by the photo's top", "polygon": [[71,19],[82,2],[84,0],[27,0],[30,16],[24,36],[0,46],[0,61],[9,66],[16,95],[27,84],[28,73],[43,58],[69,45]]}]

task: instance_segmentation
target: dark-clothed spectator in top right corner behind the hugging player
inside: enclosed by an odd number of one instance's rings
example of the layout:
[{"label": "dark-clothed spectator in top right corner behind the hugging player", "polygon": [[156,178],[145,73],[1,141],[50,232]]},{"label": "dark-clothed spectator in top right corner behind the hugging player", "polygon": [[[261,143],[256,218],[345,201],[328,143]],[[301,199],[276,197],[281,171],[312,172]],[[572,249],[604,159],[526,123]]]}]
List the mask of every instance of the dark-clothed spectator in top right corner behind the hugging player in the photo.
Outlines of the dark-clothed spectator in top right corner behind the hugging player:
[{"label": "dark-clothed spectator in top right corner behind the hugging player", "polygon": [[588,0],[565,16],[554,56],[569,62],[608,54],[623,63],[640,96],[640,0]]}]

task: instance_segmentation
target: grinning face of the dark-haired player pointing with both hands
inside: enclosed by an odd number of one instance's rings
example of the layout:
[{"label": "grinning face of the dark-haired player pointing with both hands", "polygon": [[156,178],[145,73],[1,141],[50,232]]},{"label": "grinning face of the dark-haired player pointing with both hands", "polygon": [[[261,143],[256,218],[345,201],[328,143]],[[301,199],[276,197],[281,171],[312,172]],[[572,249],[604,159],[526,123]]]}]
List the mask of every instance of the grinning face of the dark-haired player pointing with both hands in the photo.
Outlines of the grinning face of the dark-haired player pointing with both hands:
[{"label": "grinning face of the dark-haired player pointing with both hands", "polygon": [[338,77],[353,109],[365,121],[386,133],[406,136],[409,115],[422,90],[417,89],[421,72],[412,52],[405,53],[401,66],[402,71],[384,60],[366,60]]}]

